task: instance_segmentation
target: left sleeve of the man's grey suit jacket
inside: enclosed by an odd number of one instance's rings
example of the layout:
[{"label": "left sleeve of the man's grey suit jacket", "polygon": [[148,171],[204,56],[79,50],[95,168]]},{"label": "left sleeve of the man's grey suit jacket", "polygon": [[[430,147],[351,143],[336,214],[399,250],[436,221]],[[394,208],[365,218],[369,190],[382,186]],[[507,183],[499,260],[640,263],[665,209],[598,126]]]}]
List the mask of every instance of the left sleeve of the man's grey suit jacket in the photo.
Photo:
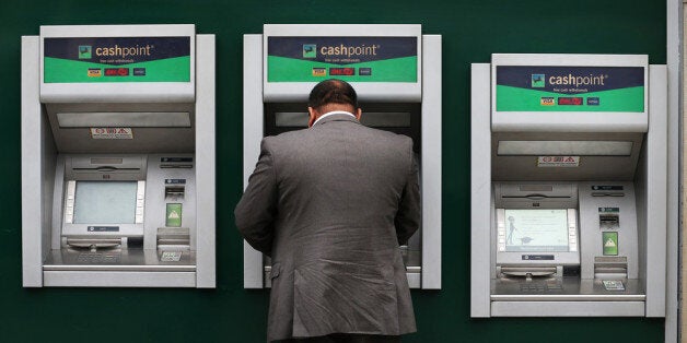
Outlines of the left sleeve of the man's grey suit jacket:
[{"label": "left sleeve of the man's grey suit jacket", "polygon": [[234,210],[236,227],[255,249],[271,256],[277,216],[277,177],[267,139],[260,143],[260,157],[248,187]]}]

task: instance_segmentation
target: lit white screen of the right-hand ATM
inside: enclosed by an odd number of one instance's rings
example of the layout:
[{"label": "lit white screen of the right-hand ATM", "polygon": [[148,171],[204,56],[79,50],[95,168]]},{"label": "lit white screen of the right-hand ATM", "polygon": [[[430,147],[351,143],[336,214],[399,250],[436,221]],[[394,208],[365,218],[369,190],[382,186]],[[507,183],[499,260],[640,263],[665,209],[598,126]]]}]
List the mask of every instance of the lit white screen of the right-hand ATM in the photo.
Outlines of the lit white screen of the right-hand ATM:
[{"label": "lit white screen of the right-hand ATM", "polygon": [[568,210],[505,210],[505,251],[568,251]]}]

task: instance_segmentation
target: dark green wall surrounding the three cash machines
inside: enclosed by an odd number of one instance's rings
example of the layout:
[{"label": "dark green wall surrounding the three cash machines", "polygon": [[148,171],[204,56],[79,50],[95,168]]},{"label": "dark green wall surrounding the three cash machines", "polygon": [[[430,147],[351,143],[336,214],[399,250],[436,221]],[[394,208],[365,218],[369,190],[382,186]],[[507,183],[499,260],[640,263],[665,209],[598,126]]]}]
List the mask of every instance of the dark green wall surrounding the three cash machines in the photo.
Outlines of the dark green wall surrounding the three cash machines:
[{"label": "dark green wall surrounding the three cash machines", "polygon": [[[663,320],[469,318],[469,63],[492,52],[648,54],[666,61],[664,0],[4,0],[0,2],[0,341],[264,342],[266,291],[245,291],[242,35],[264,23],[420,23],[443,35],[443,289],[414,292],[404,342],[662,342]],[[39,25],[193,23],[217,35],[217,289],[24,289],[20,36]],[[441,105],[441,106],[440,106]]]}]

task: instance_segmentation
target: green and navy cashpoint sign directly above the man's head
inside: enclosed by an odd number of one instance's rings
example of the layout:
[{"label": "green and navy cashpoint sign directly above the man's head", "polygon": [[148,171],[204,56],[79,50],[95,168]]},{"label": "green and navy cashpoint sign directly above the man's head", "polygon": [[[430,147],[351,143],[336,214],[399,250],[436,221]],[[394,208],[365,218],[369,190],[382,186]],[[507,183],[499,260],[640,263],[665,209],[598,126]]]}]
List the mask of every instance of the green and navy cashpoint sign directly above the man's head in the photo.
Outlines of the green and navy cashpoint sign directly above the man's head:
[{"label": "green and navy cashpoint sign directly above the man's head", "polygon": [[417,37],[268,37],[267,82],[418,82]]}]

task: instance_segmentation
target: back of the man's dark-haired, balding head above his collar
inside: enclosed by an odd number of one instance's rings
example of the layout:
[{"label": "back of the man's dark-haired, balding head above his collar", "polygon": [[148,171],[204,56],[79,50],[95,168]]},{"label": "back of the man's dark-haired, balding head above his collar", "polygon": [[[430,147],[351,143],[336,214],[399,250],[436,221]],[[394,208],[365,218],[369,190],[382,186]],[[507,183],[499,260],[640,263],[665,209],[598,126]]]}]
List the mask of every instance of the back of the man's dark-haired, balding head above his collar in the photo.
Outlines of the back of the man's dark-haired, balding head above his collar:
[{"label": "back of the man's dark-haired, balding head above his collar", "polygon": [[358,107],[356,90],[346,81],[329,79],[318,83],[310,92],[307,99],[308,126],[313,126],[322,115],[334,110],[351,113],[358,120],[362,115],[362,110]]}]

